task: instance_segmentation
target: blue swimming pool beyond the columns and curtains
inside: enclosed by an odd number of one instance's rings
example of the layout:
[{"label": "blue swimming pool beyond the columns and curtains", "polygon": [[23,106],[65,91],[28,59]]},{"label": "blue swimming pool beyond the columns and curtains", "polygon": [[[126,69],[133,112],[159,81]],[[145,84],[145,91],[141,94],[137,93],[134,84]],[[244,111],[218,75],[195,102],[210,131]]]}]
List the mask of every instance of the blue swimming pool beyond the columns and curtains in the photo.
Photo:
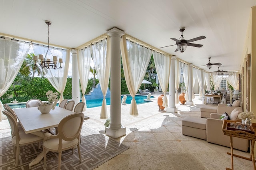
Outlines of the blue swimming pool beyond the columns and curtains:
[{"label": "blue swimming pool beyond the columns and curtains", "polygon": [[[131,104],[132,101],[132,96],[126,95],[126,104]],[[121,101],[122,101],[123,96],[121,96]],[[136,95],[135,100],[137,104],[143,104],[146,103],[144,99],[146,99],[147,96],[142,96],[142,95]],[[154,96],[151,96],[150,98],[154,98]],[[86,100],[86,106],[87,108],[94,108],[94,107],[99,107],[102,105],[102,100],[103,99],[94,99],[94,100]],[[110,98],[106,98],[107,105],[110,105]],[[23,103],[16,103],[16,104],[8,104],[12,109],[16,108],[25,108],[26,107],[26,102]],[[58,106],[58,104],[57,104]]]}]

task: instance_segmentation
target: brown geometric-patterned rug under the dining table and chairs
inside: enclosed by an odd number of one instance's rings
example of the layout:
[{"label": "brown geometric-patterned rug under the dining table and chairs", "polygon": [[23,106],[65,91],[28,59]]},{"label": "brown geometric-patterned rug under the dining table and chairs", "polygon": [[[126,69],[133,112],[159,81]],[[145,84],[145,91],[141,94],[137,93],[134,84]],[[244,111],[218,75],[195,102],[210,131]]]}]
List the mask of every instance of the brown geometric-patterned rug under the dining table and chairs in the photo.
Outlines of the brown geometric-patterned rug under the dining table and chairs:
[{"label": "brown geometric-patterned rug under the dining table and chairs", "polygon": [[[48,152],[46,155],[47,167],[44,168],[44,159],[31,167],[28,164],[42,152],[42,147],[38,149],[38,144],[30,144],[20,148],[18,166],[15,167],[13,158],[14,147],[11,144],[10,129],[1,130],[0,138],[0,170],[57,170],[58,152]],[[6,136],[6,137],[4,137]],[[116,140],[99,134],[86,126],[81,131],[81,157],[82,163],[79,163],[78,151],[75,148],[62,152],[62,170],[92,170],[114,156],[124,152],[129,147],[117,142]]]}]

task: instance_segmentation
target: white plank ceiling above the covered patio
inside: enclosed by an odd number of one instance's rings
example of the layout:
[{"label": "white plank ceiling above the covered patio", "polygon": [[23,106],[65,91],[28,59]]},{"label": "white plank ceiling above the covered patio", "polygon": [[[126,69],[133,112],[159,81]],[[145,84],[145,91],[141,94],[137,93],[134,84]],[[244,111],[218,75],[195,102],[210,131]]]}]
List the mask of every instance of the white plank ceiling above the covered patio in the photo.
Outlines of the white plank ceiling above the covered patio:
[{"label": "white plank ceiling above the covered patio", "polygon": [[[0,34],[76,48],[117,27],[160,48],[175,44],[185,27],[186,40],[206,36],[182,54],[162,51],[201,66],[221,62],[220,70],[239,70],[252,6],[256,0],[0,0]],[[217,66],[207,71],[216,71]]]}]

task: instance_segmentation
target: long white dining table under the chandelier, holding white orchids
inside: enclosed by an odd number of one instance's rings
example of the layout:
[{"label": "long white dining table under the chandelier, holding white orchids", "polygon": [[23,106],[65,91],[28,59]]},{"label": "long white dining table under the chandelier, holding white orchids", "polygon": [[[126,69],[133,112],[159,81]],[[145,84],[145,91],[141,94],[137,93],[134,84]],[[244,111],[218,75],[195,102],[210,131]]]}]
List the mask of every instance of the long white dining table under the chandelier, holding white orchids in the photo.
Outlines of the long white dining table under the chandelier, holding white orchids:
[{"label": "long white dining table under the chandelier, holding white orchids", "polygon": [[[58,124],[64,117],[75,113],[58,106],[56,106],[54,110],[51,110],[50,113],[46,114],[41,114],[37,107],[18,108],[14,109],[14,112],[26,134],[58,127]],[[87,119],[89,119],[89,117],[84,116],[84,120]],[[43,152],[32,160],[29,166],[39,163],[42,158],[44,158]]]}]

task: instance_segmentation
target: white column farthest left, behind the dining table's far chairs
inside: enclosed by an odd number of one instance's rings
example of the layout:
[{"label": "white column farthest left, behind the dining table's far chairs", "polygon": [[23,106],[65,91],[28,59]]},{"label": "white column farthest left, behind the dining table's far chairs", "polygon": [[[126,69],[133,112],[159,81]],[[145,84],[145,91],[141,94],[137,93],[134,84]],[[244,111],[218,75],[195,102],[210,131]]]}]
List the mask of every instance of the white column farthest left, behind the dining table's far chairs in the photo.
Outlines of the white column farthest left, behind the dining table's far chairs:
[{"label": "white column farthest left, behind the dining table's far chairs", "polygon": [[72,49],[72,100],[75,101],[75,106],[80,102],[79,90],[79,72],[77,67],[77,50]]}]

